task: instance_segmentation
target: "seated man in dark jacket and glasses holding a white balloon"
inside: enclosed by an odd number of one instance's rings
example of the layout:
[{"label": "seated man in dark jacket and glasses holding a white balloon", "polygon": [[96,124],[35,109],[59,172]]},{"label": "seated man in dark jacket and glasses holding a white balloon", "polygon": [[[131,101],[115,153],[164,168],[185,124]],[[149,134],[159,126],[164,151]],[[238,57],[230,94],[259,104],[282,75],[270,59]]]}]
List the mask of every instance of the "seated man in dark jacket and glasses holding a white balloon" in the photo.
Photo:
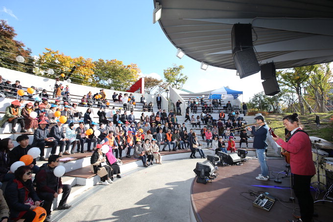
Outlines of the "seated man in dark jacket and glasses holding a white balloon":
[{"label": "seated man in dark jacket and glasses holding a white balloon", "polygon": [[44,199],[43,208],[47,213],[47,220],[51,219],[51,205],[54,198],[63,194],[58,205],[58,210],[66,210],[71,207],[67,204],[67,198],[71,193],[71,185],[62,184],[61,177],[54,175],[53,171],[59,165],[59,156],[50,155],[48,163],[41,166],[40,171],[36,174],[36,192],[38,197]]}]

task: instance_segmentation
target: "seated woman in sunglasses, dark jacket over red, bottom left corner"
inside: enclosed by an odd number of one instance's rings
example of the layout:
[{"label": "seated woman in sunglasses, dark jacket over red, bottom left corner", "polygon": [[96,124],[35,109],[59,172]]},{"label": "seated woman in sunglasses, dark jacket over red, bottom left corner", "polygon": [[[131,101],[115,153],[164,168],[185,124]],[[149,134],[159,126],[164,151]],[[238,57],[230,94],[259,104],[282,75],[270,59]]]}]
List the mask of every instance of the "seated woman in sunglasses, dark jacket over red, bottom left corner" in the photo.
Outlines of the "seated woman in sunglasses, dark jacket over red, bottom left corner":
[{"label": "seated woman in sunglasses, dark jacket over red, bottom left corner", "polygon": [[15,179],[6,187],[4,195],[13,221],[32,222],[36,217],[32,210],[40,205],[40,198],[32,186],[31,176],[30,167],[21,166],[15,171]]}]

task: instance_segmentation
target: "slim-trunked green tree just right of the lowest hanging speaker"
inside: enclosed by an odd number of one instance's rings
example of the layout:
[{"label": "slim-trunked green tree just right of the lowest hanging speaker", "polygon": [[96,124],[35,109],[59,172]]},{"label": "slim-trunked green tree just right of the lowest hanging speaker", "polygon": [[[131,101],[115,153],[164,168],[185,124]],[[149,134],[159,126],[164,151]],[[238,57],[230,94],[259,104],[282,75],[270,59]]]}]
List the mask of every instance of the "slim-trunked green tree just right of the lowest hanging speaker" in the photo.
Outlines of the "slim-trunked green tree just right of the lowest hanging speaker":
[{"label": "slim-trunked green tree just right of the lowest hanging speaker", "polygon": [[305,86],[306,81],[309,79],[309,75],[314,69],[314,66],[303,66],[288,69],[286,71],[279,71],[280,79],[279,83],[286,85],[296,91],[298,97],[298,103],[301,109],[301,115],[305,114],[305,108],[302,98],[302,90]]}]

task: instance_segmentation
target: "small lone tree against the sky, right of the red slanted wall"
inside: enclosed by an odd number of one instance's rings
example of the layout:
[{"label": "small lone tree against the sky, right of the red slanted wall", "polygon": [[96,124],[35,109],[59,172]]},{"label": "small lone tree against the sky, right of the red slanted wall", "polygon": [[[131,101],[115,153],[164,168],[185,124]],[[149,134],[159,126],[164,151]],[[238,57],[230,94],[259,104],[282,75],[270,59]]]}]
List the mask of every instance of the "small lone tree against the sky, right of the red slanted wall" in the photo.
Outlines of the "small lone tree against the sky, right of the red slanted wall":
[{"label": "small lone tree against the sky, right of the red slanted wall", "polygon": [[188,76],[182,74],[182,69],[184,69],[184,66],[177,66],[176,64],[173,64],[173,67],[167,68],[163,71],[166,82],[172,88],[181,89],[187,81]]}]

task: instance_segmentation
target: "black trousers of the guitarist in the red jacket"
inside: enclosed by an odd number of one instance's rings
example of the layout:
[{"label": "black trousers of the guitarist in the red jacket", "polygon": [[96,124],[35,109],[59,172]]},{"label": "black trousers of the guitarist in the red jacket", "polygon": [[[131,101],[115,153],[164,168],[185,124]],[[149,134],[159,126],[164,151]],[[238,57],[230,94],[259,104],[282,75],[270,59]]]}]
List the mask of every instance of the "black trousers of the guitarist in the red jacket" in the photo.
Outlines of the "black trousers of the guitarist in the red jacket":
[{"label": "black trousers of the guitarist in the red jacket", "polygon": [[300,206],[303,222],[311,222],[313,216],[313,198],[310,192],[311,177],[293,174],[294,193]]}]

